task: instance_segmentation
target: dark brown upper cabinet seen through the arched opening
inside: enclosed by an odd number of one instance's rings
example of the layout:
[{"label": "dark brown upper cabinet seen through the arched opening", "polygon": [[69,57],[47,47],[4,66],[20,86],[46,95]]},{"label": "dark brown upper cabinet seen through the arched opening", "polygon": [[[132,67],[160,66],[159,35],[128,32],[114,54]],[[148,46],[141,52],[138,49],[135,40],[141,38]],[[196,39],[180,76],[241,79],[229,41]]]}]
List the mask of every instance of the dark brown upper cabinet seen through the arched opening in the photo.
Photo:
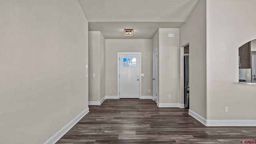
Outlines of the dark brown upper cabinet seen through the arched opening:
[{"label": "dark brown upper cabinet seen through the arched opening", "polygon": [[251,68],[251,42],[239,48],[239,68]]}]

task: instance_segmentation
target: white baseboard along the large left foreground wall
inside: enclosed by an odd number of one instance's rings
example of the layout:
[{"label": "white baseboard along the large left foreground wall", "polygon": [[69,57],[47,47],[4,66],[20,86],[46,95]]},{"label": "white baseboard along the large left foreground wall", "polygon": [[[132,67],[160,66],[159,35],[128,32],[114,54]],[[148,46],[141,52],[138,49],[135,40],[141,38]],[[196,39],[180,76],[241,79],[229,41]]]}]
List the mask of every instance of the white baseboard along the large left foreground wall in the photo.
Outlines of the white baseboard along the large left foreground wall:
[{"label": "white baseboard along the large left foreground wall", "polygon": [[44,144],[55,144],[64,134],[66,134],[81,118],[83,118],[86,114],[88,114],[89,108],[86,108],[83,112],[81,112],[76,118],[71,120],[68,124],[66,124],[63,128],[61,128],[58,132],[56,132],[52,137],[44,142]]}]

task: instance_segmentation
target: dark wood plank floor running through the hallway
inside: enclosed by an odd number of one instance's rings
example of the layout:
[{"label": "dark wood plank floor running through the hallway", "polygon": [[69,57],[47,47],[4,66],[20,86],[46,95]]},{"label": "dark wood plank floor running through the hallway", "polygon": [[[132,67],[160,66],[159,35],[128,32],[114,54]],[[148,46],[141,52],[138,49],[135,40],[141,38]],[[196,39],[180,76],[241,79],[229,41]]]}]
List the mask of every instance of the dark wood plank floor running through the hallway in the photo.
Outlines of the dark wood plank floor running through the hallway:
[{"label": "dark wood plank floor running through the hallway", "polygon": [[188,109],[158,108],[152,100],[107,99],[89,106],[57,144],[240,144],[256,127],[206,127]]}]

